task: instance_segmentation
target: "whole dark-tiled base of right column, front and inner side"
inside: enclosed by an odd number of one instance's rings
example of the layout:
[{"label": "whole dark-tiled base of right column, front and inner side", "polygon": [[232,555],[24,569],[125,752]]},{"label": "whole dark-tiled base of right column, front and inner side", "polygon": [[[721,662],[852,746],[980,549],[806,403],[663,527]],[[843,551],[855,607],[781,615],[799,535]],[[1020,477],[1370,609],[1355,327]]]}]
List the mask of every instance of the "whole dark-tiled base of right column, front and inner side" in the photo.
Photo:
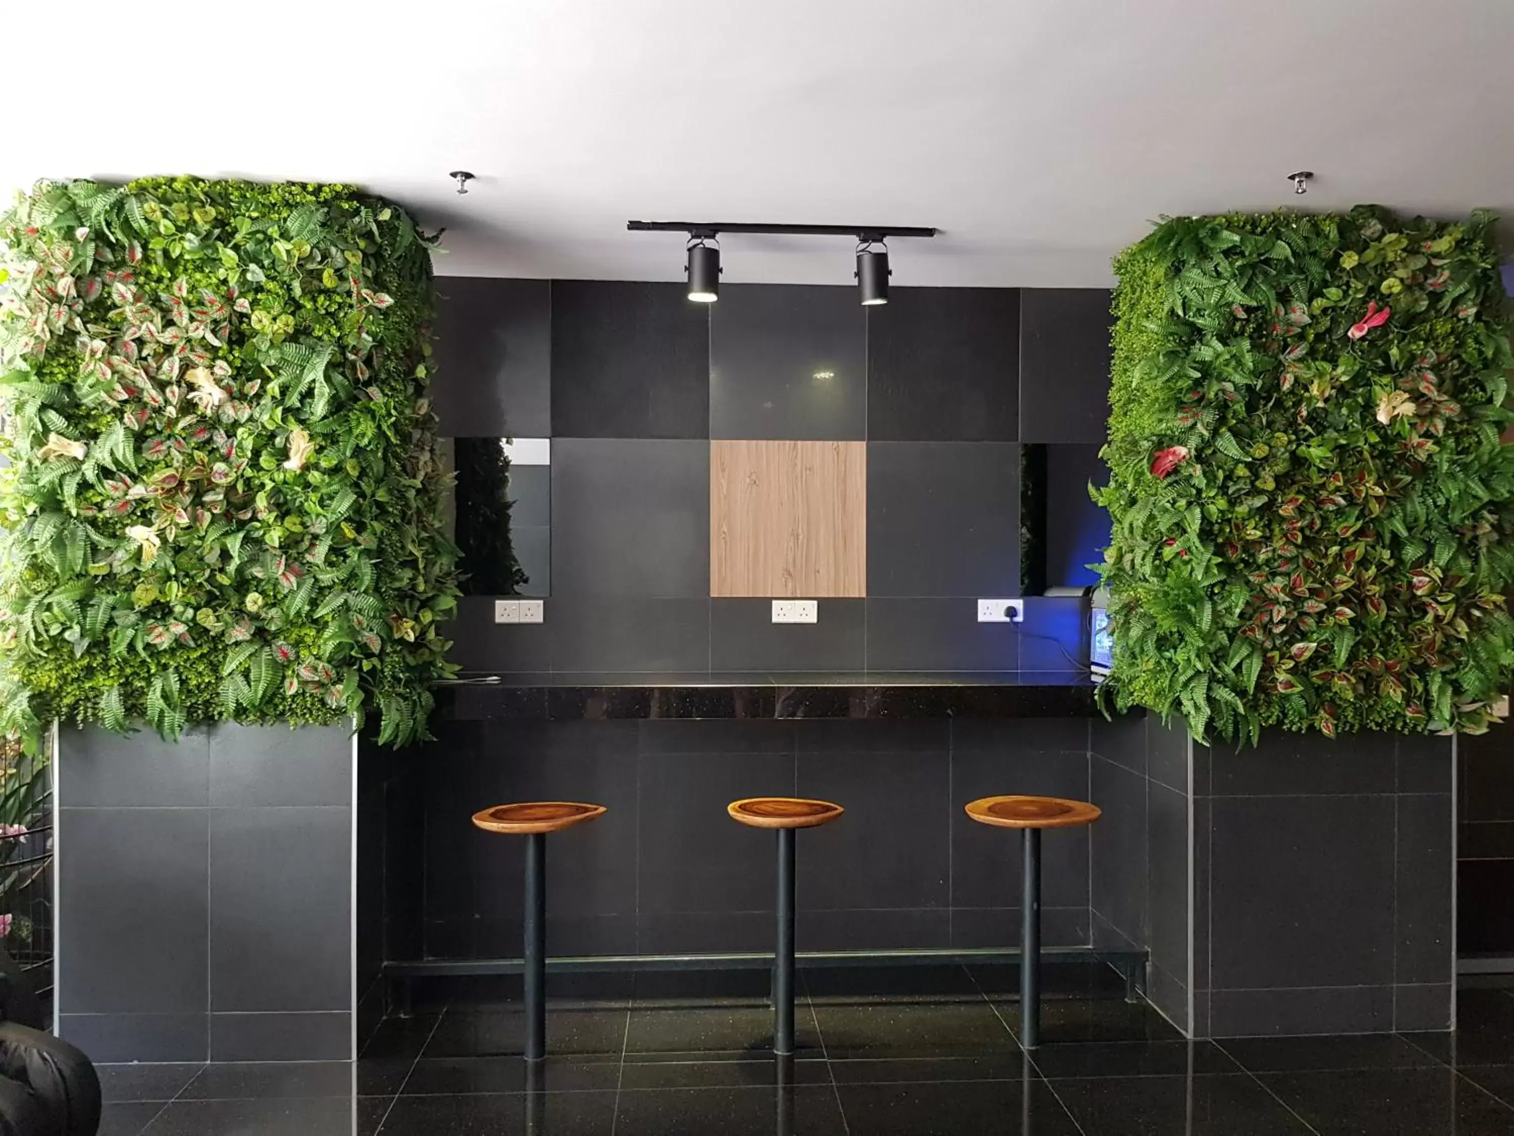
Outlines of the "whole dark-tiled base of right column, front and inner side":
[{"label": "whole dark-tiled base of right column, front and inner side", "polygon": [[1195,1038],[1449,1030],[1455,744],[1096,726],[1095,942]]}]

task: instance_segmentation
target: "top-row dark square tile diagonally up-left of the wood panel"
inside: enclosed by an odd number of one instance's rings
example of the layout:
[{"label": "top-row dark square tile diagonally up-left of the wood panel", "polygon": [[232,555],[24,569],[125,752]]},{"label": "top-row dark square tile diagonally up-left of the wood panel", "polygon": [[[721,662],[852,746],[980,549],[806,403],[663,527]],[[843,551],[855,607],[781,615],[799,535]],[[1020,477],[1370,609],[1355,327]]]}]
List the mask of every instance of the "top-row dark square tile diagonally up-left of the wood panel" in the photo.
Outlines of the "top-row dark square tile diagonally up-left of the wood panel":
[{"label": "top-row dark square tile diagonally up-left of the wood panel", "polygon": [[553,282],[554,439],[709,438],[709,380],[710,311],[683,285]]}]

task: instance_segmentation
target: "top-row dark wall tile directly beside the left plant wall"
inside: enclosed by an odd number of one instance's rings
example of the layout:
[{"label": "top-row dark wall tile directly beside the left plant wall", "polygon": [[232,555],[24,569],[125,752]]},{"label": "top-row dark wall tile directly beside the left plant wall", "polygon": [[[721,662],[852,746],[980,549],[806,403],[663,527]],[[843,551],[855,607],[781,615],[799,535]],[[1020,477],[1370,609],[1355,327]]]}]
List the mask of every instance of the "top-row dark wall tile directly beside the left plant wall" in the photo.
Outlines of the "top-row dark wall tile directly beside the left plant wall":
[{"label": "top-row dark wall tile directly beside the left plant wall", "polygon": [[431,398],[444,436],[551,433],[547,280],[436,279]]}]

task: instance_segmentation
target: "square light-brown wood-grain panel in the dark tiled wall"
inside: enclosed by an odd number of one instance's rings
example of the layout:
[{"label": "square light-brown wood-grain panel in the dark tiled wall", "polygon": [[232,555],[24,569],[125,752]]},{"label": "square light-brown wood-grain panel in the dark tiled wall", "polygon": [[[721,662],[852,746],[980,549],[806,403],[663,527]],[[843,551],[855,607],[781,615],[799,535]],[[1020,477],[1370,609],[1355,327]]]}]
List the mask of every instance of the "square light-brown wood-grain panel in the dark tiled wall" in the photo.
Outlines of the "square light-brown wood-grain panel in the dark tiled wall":
[{"label": "square light-brown wood-grain panel in the dark tiled wall", "polygon": [[710,595],[866,594],[866,442],[710,442]]}]

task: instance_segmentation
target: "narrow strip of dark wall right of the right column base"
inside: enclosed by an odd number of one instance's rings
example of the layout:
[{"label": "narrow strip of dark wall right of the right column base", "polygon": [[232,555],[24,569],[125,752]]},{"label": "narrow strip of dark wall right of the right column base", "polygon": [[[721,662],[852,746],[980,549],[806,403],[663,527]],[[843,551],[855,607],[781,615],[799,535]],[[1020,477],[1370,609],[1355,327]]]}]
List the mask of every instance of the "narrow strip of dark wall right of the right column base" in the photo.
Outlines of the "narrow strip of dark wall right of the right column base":
[{"label": "narrow strip of dark wall right of the right column base", "polygon": [[1514,957],[1514,732],[1456,739],[1456,944]]}]

